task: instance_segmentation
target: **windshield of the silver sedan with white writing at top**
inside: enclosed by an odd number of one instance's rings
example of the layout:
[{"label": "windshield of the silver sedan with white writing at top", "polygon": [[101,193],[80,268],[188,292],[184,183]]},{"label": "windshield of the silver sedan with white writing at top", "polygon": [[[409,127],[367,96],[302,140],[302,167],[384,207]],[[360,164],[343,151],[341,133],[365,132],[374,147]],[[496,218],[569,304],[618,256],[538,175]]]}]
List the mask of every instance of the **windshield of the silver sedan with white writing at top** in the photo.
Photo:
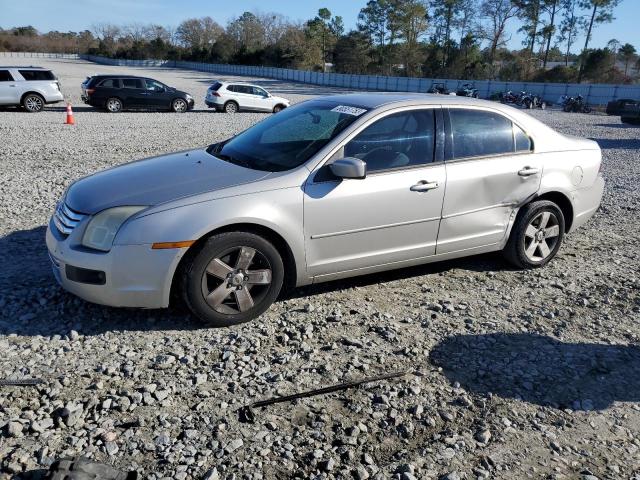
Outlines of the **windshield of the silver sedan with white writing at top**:
[{"label": "windshield of the silver sedan with white writing at top", "polygon": [[367,110],[316,100],[282,110],[207,151],[222,160],[269,172],[309,160]]}]

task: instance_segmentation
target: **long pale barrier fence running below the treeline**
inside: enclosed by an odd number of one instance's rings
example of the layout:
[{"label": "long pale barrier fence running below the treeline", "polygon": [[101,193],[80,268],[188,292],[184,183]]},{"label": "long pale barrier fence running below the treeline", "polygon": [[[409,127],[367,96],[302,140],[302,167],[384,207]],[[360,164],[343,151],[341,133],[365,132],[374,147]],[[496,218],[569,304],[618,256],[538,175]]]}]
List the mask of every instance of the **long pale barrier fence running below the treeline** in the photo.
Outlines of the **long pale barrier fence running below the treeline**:
[{"label": "long pale barrier fence running below the treeline", "polygon": [[534,83],[534,82],[501,82],[494,80],[451,80],[440,78],[408,78],[386,77],[379,75],[350,75],[343,73],[322,73],[306,70],[293,70],[275,67],[254,67],[248,65],[226,65],[215,63],[184,62],[174,60],[124,60],[117,58],[97,57],[94,55],[75,55],[57,53],[21,53],[0,52],[2,57],[35,57],[35,58],[82,58],[103,65],[120,65],[130,67],[171,67],[186,68],[202,72],[229,75],[246,75],[253,77],[275,78],[292,82],[310,83],[332,87],[345,87],[357,90],[382,90],[397,92],[426,92],[433,83],[444,83],[451,91],[455,91],[464,83],[473,83],[480,97],[488,98],[492,93],[528,91],[541,95],[549,102],[555,102],[562,95],[582,95],[592,105],[605,105],[617,98],[640,99],[640,85],[608,85],[585,83]]}]

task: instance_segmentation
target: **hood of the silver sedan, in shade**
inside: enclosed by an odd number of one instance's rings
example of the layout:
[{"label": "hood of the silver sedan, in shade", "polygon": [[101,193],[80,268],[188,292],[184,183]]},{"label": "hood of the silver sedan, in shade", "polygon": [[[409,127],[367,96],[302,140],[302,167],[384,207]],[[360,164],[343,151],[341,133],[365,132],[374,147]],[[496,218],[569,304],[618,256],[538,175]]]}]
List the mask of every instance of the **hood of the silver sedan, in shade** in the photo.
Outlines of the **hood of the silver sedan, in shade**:
[{"label": "hood of the silver sedan, in shade", "polygon": [[110,168],[72,184],[65,197],[73,210],[95,214],[123,205],[158,205],[200,193],[255,182],[270,172],[240,167],[206,150],[190,150]]}]

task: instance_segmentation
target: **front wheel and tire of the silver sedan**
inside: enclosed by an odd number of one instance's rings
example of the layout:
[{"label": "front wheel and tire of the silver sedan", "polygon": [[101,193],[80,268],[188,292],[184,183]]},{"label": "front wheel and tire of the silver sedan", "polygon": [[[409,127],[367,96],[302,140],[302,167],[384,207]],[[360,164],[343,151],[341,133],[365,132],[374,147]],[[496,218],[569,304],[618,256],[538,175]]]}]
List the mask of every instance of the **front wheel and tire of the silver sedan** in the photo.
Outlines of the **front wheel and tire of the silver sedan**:
[{"label": "front wheel and tire of the silver sedan", "polygon": [[282,257],[269,241],[253,233],[228,232],[212,236],[186,260],[180,289],[203,324],[227,327],[264,313],[283,281]]}]

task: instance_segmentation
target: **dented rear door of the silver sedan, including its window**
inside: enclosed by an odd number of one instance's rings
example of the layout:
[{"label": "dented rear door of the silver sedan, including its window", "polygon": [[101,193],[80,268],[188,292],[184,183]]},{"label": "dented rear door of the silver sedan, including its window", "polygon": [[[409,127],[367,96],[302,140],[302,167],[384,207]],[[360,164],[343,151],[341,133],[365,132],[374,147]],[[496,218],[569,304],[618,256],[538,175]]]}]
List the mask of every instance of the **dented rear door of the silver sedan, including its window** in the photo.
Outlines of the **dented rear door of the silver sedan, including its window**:
[{"label": "dented rear door of the silver sedan, including its window", "polygon": [[507,117],[451,108],[448,118],[439,255],[500,244],[515,208],[538,191],[542,178],[530,138]]}]

